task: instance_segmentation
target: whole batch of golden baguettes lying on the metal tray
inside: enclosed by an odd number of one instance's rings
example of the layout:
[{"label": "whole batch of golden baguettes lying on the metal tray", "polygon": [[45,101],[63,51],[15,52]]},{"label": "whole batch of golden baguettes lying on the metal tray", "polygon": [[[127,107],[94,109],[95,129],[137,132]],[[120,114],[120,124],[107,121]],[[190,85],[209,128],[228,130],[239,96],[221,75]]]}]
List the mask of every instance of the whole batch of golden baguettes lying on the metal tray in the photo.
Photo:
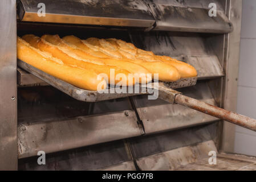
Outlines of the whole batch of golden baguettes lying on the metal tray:
[{"label": "whole batch of golden baguettes lying on the metal tray", "polygon": [[[104,89],[107,82],[129,86],[136,82],[147,83],[152,80],[154,73],[159,73],[160,81],[169,82],[197,76],[196,69],[189,64],[168,56],[154,55],[117,39],[81,40],[73,35],[63,39],[58,35],[43,35],[42,38],[25,35],[22,39],[18,38],[17,49],[19,59],[87,90]],[[109,80],[113,76],[111,69],[115,70],[114,82]],[[105,73],[108,80],[99,76],[100,73]],[[122,76],[116,77],[119,73]],[[135,73],[139,78],[133,78],[129,73]],[[152,77],[148,73],[152,73]]]}]

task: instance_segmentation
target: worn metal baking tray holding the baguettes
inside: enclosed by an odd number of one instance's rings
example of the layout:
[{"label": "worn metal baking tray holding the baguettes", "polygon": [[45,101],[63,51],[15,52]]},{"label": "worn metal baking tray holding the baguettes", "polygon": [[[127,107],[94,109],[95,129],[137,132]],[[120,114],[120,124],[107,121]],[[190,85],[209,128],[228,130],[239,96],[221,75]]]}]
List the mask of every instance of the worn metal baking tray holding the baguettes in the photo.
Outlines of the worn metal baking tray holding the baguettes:
[{"label": "worn metal baking tray holding the baguettes", "polygon": [[[54,76],[48,75],[47,73],[40,71],[35,67],[32,67],[30,64],[27,64],[22,60],[18,59],[17,63],[20,68],[24,69],[25,71],[31,73],[32,75],[40,78],[40,80],[47,82],[47,84],[54,86],[56,89],[59,89],[60,91],[68,94],[69,96],[79,101],[97,102],[97,101],[112,100],[115,98],[145,94],[141,92],[140,93],[112,93],[111,90],[108,90],[108,93],[99,93],[97,91],[79,89],[71,84],[68,84],[65,81],[59,80]],[[177,88],[196,85],[196,82],[197,82],[197,77],[191,77],[191,78],[182,78],[181,80],[178,80],[176,82],[164,82],[164,85],[168,88],[177,89]],[[115,89],[113,89],[112,91],[115,91]]]}]

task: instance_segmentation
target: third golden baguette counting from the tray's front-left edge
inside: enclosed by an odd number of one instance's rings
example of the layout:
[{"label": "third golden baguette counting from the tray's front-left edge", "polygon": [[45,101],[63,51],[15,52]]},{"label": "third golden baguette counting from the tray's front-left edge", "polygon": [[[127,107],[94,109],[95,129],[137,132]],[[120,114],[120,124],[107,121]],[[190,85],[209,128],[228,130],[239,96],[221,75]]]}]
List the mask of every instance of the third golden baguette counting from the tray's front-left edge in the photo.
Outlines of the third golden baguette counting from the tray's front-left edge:
[{"label": "third golden baguette counting from the tray's front-left edge", "polygon": [[[126,69],[131,73],[136,73],[141,76],[140,83],[141,82],[147,83],[151,81],[151,77],[147,77],[147,74],[151,72],[149,72],[146,68],[144,68],[141,65],[135,64],[129,60],[108,58],[109,56],[105,55],[103,52],[100,52],[99,49],[94,48],[93,45],[90,45],[89,43],[84,42],[83,40],[77,38],[74,35],[65,36],[62,39],[67,44],[71,44],[72,46],[78,47],[82,49],[84,52],[86,52],[87,59],[92,59],[97,61],[100,60],[105,65],[115,66],[121,69]],[[91,48],[86,45],[91,46]],[[95,50],[98,50],[98,51],[95,51]],[[146,76],[143,77],[142,75],[146,75]]]}]

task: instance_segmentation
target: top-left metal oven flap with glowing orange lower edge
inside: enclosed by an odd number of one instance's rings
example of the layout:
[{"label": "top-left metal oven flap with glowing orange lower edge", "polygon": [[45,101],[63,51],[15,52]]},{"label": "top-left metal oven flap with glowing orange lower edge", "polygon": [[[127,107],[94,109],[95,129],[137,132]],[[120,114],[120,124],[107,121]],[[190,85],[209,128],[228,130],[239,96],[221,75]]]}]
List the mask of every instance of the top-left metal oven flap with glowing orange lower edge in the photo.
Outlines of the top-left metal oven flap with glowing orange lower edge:
[{"label": "top-left metal oven flap with glowing orange lower edge", "polygon": [[25,22],[145,28],[152,27],[155,23],[149,7],[143,1],[45,0],[43,3],[46,7],[46,16],[38,16],[38,5],[41,2],[40,0],[19,0],[19,19]]}]

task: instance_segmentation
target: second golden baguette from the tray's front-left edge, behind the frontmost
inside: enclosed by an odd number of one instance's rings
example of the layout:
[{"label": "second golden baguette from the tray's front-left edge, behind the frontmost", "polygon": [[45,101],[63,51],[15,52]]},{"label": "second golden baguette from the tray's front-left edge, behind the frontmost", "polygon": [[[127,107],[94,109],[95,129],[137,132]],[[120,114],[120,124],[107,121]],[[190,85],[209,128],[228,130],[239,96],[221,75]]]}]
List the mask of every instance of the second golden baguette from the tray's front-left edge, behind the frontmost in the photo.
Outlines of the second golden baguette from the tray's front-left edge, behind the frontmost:
[{"label": "second golden baguette from the tray's front-left edge, behind the frontmost", "polygon": [[[116,67],[110,67],[107,65],[99,65],[90,63],[89,60],[84,60],[81,57],[77,56],[74,52],[66,47],[55,46],[50,42],[45,40],[47,35],[42,36],[42,38],[31,38],[30,36],[23,36],[23,38],[30,43],[34,43],[36,48],[39,48],[41,51],[51,53],[52,56],[60,59],[63,61],[64,64],[71,65],[73,67],[83,68],[83,69],[91,69],[92,71],[96,72],[97,74],[105,73],[107,75],[107,80],[109,84],[121,84],[121,85],[134,85],[135,79],[129,76],[129,72],[126,70],[121,70]],[[27,38],[29,37],[29,38]],[[40,41],[35,41],[36,39],[40,39]],[[37,44],[35,44],[37,42]],[[111,76],[111,69],[115,70],[115,75]],[[116,77],[117,74],[122,73],[123,77],[119,78]],[[111,80],[114,77],[115,80]],[[106,78],[106,77],[105,77]]]}]

